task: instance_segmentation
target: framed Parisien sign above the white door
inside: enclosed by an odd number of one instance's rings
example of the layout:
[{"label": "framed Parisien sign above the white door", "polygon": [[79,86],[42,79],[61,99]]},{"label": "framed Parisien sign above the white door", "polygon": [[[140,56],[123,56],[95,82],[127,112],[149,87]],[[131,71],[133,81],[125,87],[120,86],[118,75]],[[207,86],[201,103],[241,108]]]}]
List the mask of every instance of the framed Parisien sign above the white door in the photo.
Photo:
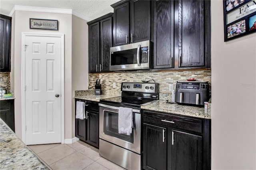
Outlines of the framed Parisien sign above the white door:
[{"label": "framed Parisien sign above the white door", "polygon": [[30,29],[58,30],[58,20],[44,20],[30,18]]}]

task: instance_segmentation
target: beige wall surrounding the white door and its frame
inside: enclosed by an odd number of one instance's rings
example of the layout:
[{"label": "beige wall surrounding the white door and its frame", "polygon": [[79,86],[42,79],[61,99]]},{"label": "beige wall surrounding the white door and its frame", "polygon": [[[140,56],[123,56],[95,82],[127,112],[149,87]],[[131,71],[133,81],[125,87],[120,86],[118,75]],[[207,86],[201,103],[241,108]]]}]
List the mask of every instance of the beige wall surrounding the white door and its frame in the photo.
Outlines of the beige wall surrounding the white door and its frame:
[{"label": "beige wall surrounding the white door and its frame", "polygon": [[[12,20],[12,74],[11,79],[15,93],[15,130],[19,138],[21,129],[21,33],[55,33],[65,35],[65,139],[72,138],[72,15],[52,14],[47,12],[16,11]],[[30,30],[29,18],[58,20],[59,30]],[[15,39],[14,39],[15,38]],[[13,41],[15,40],[15,41]],[[13,43],[14,42],[14,43]]]}]

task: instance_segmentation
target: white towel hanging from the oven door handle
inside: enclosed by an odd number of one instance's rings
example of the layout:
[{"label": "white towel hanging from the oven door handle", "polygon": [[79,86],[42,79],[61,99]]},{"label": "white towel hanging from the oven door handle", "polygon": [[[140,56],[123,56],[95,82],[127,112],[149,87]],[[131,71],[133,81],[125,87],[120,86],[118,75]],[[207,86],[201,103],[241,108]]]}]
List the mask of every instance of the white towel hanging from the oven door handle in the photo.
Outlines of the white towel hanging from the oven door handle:
[{"label": "white towel hanging from the oven door handle", "polygon": [[118,133],[130,135],[132,133],[133,114],[131,108],[119,107],[118,111]]}]

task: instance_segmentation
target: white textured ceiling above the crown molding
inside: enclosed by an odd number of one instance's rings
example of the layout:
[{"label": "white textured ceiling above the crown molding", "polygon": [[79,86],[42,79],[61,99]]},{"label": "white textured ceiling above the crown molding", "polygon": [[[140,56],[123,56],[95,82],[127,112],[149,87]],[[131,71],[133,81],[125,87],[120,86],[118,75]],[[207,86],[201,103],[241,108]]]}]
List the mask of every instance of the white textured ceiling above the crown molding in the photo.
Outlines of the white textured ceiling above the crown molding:
[{"label": "white textured ceiling above the crown molding", "polygon": [[0,0],[0,13],[9,15],[14,5],[74,10],[92,20],[113,12],[110,6],[119,0]]}]

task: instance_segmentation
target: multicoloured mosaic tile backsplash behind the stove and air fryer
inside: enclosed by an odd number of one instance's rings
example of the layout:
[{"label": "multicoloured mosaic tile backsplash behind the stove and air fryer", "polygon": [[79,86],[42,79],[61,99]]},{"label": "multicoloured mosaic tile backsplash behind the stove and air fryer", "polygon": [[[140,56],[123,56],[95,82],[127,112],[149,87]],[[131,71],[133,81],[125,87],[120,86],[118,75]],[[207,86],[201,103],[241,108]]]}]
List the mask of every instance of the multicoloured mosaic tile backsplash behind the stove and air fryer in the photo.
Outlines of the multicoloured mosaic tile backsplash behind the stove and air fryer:
[{"label": "multicoloured mosaic tile backsplash behind the stove and air fryer", "polygon": [[[211,92],[211,70],[186,70],[186,71],[159,71],[159,72],[124,72],[124,73],[90,73],[88,76],[89,89],[94,89],[96,79],[100,79],[102,89],[113,89],[113,83],[116,83],[115,90],[121,90],[122,82],[142,82],[142,80],[154,79],[160,84],[160,93],[172,93],[169,91],[169,84],[176,81],[186,81],[193,77],[197,81],[208,81]],[[150,81],[150,83],[153,81]]]}]

